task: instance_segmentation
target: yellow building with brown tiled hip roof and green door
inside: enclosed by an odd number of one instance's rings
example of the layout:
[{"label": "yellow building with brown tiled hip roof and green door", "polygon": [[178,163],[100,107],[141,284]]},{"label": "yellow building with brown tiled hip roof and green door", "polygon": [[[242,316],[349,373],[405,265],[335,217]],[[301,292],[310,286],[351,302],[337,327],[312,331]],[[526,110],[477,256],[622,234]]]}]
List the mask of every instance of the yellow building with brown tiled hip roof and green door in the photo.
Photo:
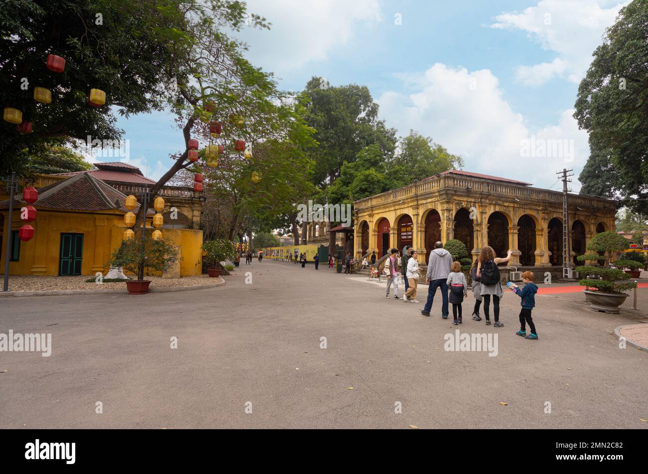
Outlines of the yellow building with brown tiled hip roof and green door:
[{"label": "yellow building with brown tiled hip roof and green door", "polygon": [[[103,169],[100,166],[104,166]],[[108,271],[106,262],[121,245],[126,229],[126,194],[118,188],[135,195],[141,203],[141,192],[154,182],[143,177],[139,169],[124,163],[100,163],[97,168],[64,175],[40,175],[34,183],[39,192],[38,201],[33,205],[36,220],[30,222],[34,237],[27,242],[18,238],[18,229],[25,223],[20,218],[20,210],[27,203],[21,201],[20,196],[14,196],[13,216],[9,222],[9,201],[0,202],[0,268],[5,265],[5,239],[11,238],[10,275],[95,275]],[[112,182],[109,184],[98,175]],[[163,238],[178,247],[179,262],[165,276],[200,275],[202,231],[198,226],[202,193],[194,193],[190,188],[168,187],[170,190],[163,188],[159,193],[166,201],[165,223],[161,230]],[[174,199],[178,201],[175,205]],[[133,212],[137,210],[139,204]],[[176,215],[172,215],[174,210]],[[148,210],[147,227],[152,227],[154,214],[153,210]]]}]

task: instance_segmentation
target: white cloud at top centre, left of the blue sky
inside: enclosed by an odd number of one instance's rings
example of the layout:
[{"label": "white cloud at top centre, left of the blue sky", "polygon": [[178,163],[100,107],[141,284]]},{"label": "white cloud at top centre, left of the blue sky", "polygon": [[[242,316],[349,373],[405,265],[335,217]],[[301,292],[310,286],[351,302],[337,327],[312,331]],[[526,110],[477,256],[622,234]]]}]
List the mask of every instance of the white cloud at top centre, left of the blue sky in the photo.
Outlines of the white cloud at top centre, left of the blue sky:
[{"label": "white cloud at top centre, left of the blue sky", "polygon": [[323,61],[353,37],[355,28],[382,21],[378,0],[248,0],[248,11],[272,23],[270,32],[248,28],[240,34],[253,64],[289,73]]}]

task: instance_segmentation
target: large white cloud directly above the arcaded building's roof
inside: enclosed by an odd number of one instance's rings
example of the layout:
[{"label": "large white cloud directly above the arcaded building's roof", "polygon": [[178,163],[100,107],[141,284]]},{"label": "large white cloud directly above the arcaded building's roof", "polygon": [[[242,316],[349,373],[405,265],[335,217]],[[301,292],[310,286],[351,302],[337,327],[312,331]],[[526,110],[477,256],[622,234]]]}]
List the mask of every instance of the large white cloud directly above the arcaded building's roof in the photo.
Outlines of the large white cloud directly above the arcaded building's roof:
[{"label": "large white cloud directly above the arcaded building's roof", "polygon": [[[380,114],[397,124],[401,135],[413,129],[461,155],[467,171],[546,187],[555,182],[557,170],[574,168],[577,175],[587,161],[587,133],[578,130],[573,110],[562,111],[557,124],[529,130],[488,69],[470,72],[437,63],[424,73],[402,77],[417,90],[382,94]],[[567,141],[559,143],[567,145],[562,152],[524,156],[524,144],[533,143],[534,150],[546,144],[550,150],[555,140]]]}]

